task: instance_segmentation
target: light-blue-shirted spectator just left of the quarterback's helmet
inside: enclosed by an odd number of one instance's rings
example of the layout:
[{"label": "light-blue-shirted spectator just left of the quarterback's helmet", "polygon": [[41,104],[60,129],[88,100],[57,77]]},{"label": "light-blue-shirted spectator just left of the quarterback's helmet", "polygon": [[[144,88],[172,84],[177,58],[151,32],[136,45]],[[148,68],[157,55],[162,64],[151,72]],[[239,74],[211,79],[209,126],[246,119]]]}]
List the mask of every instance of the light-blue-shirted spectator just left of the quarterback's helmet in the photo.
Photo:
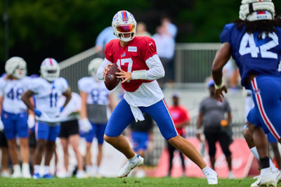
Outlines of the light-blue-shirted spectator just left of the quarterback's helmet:
[{"label": "light-blue-shirted spectator just left of the quarterback's helmet", "polygon": [[104,49],[105,44],[112,39],[117,39],[117,37],[115,37],[115,34],[110,27],[106,27],[102,32],[100,32],[100,34],[98,34],[95,46],[96,52],[101,52]]}]

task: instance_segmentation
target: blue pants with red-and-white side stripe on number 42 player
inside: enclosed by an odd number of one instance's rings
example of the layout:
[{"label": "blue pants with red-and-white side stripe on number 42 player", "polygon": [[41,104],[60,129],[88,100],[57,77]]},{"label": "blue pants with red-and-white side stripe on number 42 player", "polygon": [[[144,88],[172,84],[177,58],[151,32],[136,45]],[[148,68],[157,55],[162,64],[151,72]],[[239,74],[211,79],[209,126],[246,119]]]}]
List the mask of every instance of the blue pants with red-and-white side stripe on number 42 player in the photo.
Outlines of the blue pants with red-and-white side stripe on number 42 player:
[{"label": "blue pants with red-and-white side stripe on number 42 player", "polygon": [[248,122],[272,134],[279,141],[281,134],[281,77],[259,76],[251,81],[254,108]]}]

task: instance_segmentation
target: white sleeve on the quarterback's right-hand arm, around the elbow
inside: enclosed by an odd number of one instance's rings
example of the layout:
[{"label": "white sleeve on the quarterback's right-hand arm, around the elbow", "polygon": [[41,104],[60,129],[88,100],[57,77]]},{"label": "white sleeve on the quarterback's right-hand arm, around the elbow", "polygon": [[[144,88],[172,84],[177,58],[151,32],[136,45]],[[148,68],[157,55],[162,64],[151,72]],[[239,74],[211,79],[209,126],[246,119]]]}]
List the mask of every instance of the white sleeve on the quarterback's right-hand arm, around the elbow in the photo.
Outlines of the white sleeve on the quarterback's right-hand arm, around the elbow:
[{"label": "white sleeve on the quarterback's right-hand arm, around the elbow", "polygon": [[145,61],[149,70],[146,71],[146,80],[160,79],[165,76],[164,67],[159,59],[159,56],[154,55]]}]

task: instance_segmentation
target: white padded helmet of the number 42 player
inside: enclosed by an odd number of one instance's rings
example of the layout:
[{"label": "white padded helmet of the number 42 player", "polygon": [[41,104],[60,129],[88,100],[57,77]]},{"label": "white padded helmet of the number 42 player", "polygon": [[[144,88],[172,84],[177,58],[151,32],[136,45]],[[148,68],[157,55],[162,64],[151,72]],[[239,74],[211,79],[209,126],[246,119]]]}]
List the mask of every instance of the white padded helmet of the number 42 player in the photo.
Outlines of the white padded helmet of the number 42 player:
[{"label": "white padded helmet of the number 42 player", "polygon": [[272,0],[242,0],[239,18],[241,20],[274,20],[275,7]]}]

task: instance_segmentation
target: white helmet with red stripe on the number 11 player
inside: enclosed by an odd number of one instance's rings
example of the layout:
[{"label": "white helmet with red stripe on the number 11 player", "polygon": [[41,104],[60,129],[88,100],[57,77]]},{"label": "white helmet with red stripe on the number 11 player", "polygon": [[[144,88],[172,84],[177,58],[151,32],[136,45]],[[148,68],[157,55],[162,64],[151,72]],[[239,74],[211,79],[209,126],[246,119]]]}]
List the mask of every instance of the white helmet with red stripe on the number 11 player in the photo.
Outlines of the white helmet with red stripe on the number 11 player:
[{"label": "white helmet with red stripe on the number 11 player", "polygon": [[48,82],[53,82],[53,80],[60,77],[60,65],[53,58],[46,58],[40,67],[41,76]]}]

